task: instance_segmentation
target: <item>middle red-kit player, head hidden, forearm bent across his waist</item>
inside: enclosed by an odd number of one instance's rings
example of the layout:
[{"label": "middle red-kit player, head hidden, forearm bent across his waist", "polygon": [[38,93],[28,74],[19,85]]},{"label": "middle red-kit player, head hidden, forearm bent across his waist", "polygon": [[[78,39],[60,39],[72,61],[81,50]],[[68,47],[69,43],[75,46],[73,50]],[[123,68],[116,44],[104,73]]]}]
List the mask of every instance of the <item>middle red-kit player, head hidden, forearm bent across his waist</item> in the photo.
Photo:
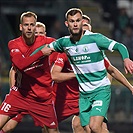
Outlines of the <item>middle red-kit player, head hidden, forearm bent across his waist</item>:
[{"label": "middle red-kit player, head hidden, forearm bent across his waist", "polygon": [[[78,82],[65,53],[58,53],[54,66],[59,67],[62,70],[62,73],[68,73],[65,75],[58,75],[58,77],[60,77],[60,82],[57,81],[58,83],[55,83],[53,89],[57,119],[58,122],[61,122],[71,115],[77,115],[79,112]],[[54,67],[52,67],[52,69],[54,69]],[[53,75],[52,72],[53,70],[51,70],[51,75],[53,76],[53,80],[56,82],[56,77],[54,77],[56,75]]]}]

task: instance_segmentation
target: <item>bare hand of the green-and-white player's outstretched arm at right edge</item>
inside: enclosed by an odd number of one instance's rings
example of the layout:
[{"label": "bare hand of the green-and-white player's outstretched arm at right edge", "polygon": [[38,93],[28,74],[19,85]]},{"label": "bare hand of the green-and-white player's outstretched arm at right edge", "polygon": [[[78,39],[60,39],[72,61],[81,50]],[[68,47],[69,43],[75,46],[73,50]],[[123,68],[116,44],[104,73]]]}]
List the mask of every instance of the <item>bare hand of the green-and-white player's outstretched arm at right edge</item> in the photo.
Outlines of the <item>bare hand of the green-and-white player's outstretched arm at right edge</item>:
[{"label": "bare hand of the green-and-white player's outstretched arm at right edge", "polygon": [[124,69],[126,74],[129,72],[133,74],[133,61],[129,58],[124,59]]}]

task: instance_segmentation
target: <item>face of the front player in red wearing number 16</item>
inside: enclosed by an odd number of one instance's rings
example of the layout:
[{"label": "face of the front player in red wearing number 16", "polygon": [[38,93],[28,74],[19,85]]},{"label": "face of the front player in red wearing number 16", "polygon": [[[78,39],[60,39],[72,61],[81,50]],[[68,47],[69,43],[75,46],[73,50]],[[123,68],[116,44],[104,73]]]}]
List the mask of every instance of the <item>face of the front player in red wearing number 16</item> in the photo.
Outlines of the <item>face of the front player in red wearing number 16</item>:
[{"label": "face of the front player in red wearing number 16", "polygon": [[36,20],[32,17],[23,17],[22,24],[20,24],[20,30],[24,37],[32,38],[35,35]]}]

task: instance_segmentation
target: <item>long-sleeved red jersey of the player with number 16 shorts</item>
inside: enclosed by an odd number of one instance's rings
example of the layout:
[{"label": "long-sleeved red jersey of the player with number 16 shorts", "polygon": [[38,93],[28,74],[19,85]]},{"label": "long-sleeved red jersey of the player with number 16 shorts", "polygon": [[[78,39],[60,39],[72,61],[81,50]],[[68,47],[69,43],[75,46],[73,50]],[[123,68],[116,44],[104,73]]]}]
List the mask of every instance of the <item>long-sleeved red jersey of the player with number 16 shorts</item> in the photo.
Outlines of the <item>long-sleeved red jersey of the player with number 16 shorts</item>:
[{"label": "long-sleeved red jersey of the player with number 16 shorts", "polygon": [[36,36],[34,43],[28,46],[24,39],[19,37],[8,43],[11,61],[17,68],[15,86],[23,96],[41,100],[51,97],[52,79],[48,56],[43,57],[41,50],[30,55],[40,46],[54,40],[46,36]]}]

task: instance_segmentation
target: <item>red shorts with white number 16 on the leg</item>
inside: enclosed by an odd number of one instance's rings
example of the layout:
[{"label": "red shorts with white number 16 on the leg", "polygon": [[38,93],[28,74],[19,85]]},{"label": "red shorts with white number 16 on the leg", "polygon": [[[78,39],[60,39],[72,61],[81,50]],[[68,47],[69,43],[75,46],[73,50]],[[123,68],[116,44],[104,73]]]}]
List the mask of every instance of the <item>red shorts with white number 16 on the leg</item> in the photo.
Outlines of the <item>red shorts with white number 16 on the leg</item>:
[{"label": "red shorts with white number 16 on the leg", "polygon": [[19,91],[11,90],[0,107],[0,114],[13,118],[20,113],[31,115],[36,126],[57,127],[52,99],[46,101],[29,99],[22,96]]}]

